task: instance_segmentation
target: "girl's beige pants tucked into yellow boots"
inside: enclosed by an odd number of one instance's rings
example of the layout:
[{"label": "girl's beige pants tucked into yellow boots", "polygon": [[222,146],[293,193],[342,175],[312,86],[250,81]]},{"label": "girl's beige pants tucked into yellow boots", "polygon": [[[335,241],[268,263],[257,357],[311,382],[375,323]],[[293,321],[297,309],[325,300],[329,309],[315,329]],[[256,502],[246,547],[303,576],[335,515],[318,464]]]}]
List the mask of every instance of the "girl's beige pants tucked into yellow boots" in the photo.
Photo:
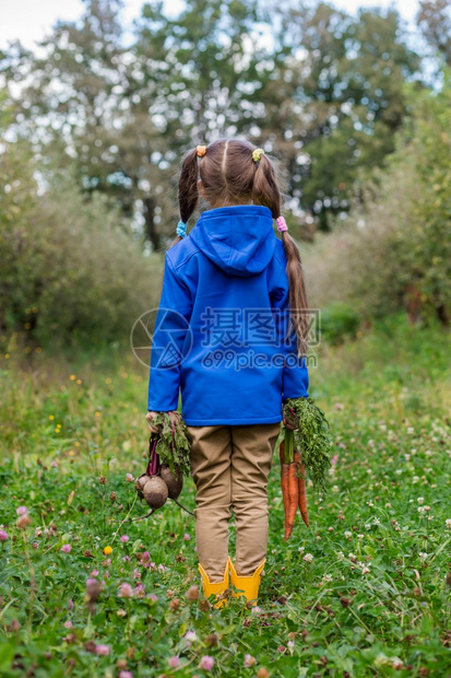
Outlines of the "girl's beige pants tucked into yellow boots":
[{"label": "girl's beige pants tucked into yellow boots", "polygon": [[281,423],[188,429],[199,562],[212,583],[223,581],[233,507],[235,569],[238,576],[249,576],[266,556],[268,477]]}]

